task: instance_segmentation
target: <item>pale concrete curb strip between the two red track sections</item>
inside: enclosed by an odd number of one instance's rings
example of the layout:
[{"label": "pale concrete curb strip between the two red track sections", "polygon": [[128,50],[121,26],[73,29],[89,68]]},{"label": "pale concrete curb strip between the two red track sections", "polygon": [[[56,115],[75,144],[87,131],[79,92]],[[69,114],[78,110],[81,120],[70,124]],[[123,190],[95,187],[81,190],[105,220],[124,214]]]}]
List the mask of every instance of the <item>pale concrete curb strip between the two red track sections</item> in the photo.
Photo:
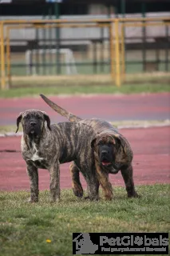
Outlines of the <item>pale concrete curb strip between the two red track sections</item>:
[{"label": "pale concrete curb strip between the two red track sections", "polygon": [[[134,125],[134,126],[117,126],[118,130],[121,129],[147,129],[147,128],[154,128],[154,127],[166,127],[166,126],[170,126],[170,123],[157,123],[157,124],[146,124],[146,125]],[[4,137],[20,137],[22,136],[22,132],[18,132],[17,134],[15,134],[14,132],[7,132],[4,134],[0,134],[0,138],[4,138]]]}]

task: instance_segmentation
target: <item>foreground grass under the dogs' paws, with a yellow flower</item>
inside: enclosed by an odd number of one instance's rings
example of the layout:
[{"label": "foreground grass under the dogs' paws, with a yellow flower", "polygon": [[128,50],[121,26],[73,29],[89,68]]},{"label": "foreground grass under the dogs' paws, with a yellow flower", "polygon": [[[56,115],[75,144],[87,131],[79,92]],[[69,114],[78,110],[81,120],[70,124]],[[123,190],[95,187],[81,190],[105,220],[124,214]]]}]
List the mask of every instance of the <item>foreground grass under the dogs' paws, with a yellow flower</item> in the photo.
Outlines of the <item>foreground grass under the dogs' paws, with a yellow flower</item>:
[{"label": "foreground grass under the dogs' paws, with a yellow flower", "polygon": [[62,190],[57,204],[49,191],[36,204],[26,202],[28,192],[0,192],[0,255],[72,255],[73,232],[169,232],[169,186],[137,191],[142,198],[117,187],[113,202],[88,202]]}]

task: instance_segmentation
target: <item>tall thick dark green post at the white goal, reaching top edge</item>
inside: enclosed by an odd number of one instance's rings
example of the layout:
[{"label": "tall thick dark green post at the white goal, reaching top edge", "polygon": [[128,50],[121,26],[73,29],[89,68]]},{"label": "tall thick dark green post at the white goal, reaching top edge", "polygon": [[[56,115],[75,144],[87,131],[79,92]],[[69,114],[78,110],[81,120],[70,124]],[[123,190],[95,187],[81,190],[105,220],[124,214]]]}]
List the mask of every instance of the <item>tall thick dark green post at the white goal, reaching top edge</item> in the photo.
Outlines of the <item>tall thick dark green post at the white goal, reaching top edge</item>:
[{"label": "tall thick dark green post at the white goal, reaching top edge", "polygon": [[[55,2],[55,17],[59,18],[59,3]],[[60,53],[59,53],[59,48],[60,48],[60,28],[56,28],[56,64],[57,64],[57,74],[61,73],[61,68],[60,68]]]}]

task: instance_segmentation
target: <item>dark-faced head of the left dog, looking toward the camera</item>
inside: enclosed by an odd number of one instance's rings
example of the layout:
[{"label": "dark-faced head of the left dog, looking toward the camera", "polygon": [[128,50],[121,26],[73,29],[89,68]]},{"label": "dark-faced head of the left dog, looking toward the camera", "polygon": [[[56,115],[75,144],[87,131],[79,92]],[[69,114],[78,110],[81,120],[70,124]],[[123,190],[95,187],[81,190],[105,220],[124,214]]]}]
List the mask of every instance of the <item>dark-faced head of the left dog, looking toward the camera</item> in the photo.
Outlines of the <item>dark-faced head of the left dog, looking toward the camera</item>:
[{"label": "dark-faced head of the left dog, looking toward the camera", "polygon": [[42,130],[45,127],[45,122],[47,123],[49,130],[51,130],[49,116],[44,111],[26,110],[20,113],[17,118],[16,133],[18,132],[20,122],[22,123],[24,134],[32,137],[36,137],[42,133]]}]

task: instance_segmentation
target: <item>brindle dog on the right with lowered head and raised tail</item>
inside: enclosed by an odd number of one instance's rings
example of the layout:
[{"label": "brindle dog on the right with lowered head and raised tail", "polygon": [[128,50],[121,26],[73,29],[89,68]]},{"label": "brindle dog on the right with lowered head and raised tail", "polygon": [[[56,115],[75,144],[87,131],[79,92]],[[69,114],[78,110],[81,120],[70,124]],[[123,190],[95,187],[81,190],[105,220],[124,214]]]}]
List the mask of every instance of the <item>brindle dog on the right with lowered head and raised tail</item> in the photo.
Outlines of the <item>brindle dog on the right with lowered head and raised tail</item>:
[{"label": "brindle dog on the right with lowered head and raised tail", "polygon": [[[77,123],[86,124],[91,126],[95,131],[96,136],[93,140],[89,137],[86,137],[86,139],[88,141],[91,140],[90,144],[94,152],[97,178],[105,192],[105,198],[109,200],[113,198],[113,188],[109,182],[109,174],[117,174],[119,170],[121,170],[122,177],[125,181],[128,198],[138,197],[132,175],[133,153],[128,140],[109,122],[97,118],[78,118],[67,110],[57,106],[56,103],[51,102],[49,98],[46,98],[44,95],[41,94],[41,97],[53,110],[69,119],[75,126]],[[85,134],[81,134],[81,137],[85,137]],[[75,162],[70,165],[73,192],[79,197],[83,195],[79,175],[80,170],[81,169],[78,168]]]}]

